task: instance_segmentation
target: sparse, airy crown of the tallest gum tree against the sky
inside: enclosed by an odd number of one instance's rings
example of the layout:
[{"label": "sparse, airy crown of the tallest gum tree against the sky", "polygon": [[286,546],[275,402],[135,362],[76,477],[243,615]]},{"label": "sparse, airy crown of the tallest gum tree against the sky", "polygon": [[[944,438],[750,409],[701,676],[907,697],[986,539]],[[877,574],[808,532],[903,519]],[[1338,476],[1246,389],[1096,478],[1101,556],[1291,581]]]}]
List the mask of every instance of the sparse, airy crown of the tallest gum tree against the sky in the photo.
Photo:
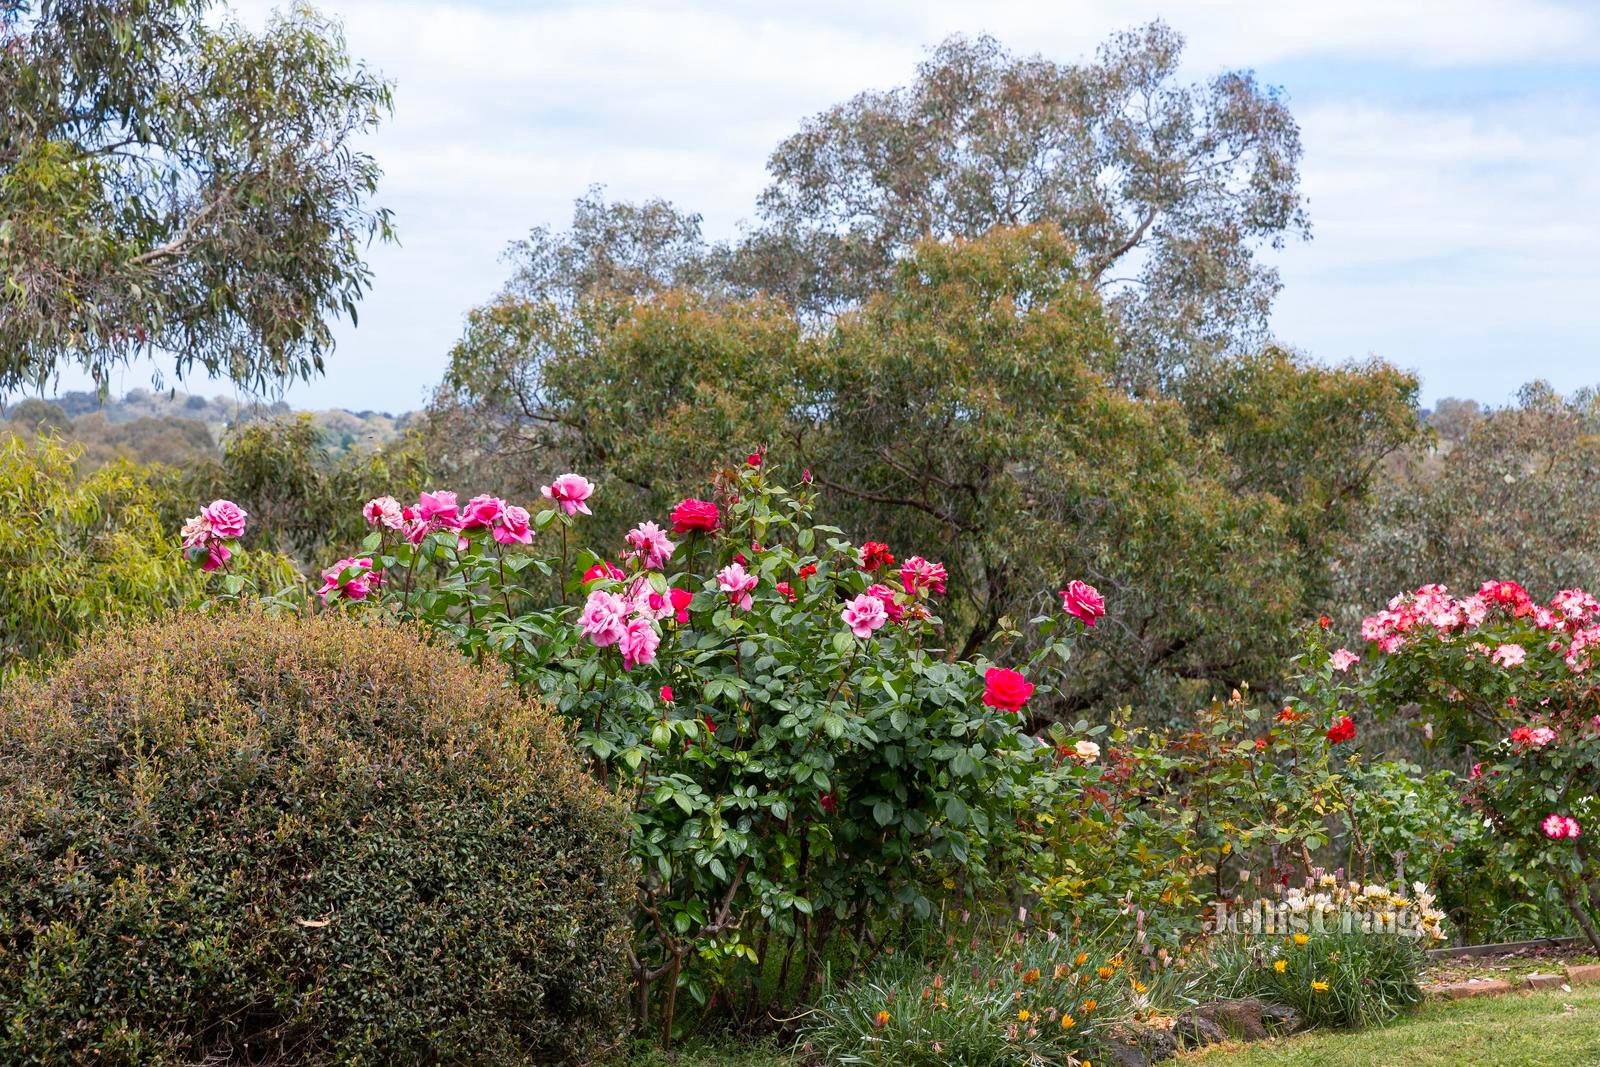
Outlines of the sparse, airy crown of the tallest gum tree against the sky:
[{"label": "sparse, airy crown of the tallest gum tree against the sky", "polygon": [[928,237],[1051,222],[1125,341],[1118,384],[1254,347],[1278,288],[1254,253],[1309,234],[1299,126],[1248,72],[1179,83],[1182,46],[1163,22],[1077,64],[952,37],[910,85],[861,93],[778,146],[741,266],[838,310]]}]

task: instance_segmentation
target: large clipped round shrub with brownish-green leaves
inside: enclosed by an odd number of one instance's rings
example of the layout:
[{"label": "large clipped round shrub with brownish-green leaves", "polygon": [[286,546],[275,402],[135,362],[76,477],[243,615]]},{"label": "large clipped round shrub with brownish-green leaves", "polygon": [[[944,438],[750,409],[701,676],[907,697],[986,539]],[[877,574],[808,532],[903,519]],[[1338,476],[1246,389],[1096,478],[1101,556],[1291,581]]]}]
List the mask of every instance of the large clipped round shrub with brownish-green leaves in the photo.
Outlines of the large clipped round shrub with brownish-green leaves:
[{"label": "large clipped round shrub with brownish-green leaves", "polygon": [[102,637],[0,696],[0,1062],[590,1057],[626,849],[558,720],[410,630]]}]

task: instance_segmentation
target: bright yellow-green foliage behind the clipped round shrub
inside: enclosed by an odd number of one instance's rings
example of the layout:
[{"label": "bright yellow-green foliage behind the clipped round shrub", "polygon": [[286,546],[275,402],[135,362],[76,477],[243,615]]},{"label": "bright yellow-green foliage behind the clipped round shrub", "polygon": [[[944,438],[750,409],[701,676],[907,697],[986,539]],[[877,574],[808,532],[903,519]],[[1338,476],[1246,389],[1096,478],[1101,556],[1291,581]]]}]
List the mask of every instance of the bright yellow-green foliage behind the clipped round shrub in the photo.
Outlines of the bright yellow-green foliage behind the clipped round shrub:
[{"label": "bright yellow-green foliage behind the clipped round shrub", "polygon": [[[0,683],[45,665],[85,635],[197,598],[165,510],[170,486],[112,462],[88,477],[54,440],[0,434]],[[282,585],[282,560],[253,555],[248,573]]]}]

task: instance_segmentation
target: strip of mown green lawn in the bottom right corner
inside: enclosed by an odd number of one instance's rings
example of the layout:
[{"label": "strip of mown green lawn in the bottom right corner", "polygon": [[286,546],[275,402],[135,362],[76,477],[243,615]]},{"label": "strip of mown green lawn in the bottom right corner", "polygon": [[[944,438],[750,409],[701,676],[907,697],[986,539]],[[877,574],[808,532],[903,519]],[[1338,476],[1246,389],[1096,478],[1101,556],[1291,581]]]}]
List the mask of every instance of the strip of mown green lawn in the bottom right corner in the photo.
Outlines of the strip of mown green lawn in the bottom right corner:
[{"label": "strip of mown green lawn in the bottom right corner", "polygon": [[1579,1067],[1600,1064],[1600,985],[1424,1005],[1381,1030],[1189,1056],[1184,1067]]}]

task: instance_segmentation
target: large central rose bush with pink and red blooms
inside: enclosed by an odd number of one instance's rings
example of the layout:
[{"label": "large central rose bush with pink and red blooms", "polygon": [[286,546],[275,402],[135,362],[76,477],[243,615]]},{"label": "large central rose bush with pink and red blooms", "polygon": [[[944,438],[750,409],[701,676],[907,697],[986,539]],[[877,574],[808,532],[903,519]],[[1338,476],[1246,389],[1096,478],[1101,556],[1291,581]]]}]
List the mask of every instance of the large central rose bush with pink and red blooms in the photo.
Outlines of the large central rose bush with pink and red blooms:
[{"label": "large central rose bush with pink and red blooms", "polygon": [[[634,814],[642,1016],[654,1003],[670,1035],[678,989],[760,1009],[768,961],[763,995],[776,974],[776,997],[803,997],[837,949],[866,961],[902,918],[986,888],[1037,749],[1022,712],[1083,614],[1038,619],[1024,662],[952,659],[944,566],[813,525],[810,486],[771,461],[603,555],[573,549],[595,486],[542,494],[534,515],[373,501],[318,592],[499,657],[570,718]],[[536,603],[530,568],[562,574],[565,603]]]}]

